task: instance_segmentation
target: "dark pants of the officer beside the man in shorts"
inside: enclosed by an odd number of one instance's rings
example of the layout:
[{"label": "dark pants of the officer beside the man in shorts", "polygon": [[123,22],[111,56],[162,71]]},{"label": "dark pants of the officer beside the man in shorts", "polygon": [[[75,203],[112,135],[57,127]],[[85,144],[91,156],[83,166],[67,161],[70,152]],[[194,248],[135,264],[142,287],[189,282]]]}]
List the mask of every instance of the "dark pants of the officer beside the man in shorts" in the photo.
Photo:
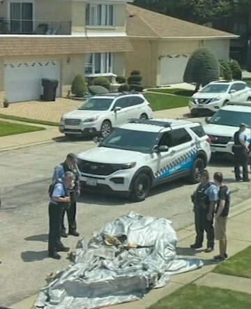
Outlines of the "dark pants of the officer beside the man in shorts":
[{"label": "dark pants of the officer beside the man in shorts", "polygon": [[212,220],[207,220],[207,213],[208,209],[195,209],[195,244],[200,247],[202,246],[204,240],[204,232],[206,232],[207,248],[213,248],[215,239],[213,218]]}]

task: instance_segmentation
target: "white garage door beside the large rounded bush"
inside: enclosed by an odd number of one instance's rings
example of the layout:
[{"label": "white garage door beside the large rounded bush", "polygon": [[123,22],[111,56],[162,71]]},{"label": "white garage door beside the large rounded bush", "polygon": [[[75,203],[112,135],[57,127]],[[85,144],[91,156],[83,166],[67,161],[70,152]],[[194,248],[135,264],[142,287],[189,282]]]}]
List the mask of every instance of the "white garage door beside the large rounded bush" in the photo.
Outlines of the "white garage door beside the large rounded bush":
[{"label": "white garage door beside the large rounded bush", "polygon": [[188,54],[168,54],[160,60],[160,84],[177,84],[183,82]]}]

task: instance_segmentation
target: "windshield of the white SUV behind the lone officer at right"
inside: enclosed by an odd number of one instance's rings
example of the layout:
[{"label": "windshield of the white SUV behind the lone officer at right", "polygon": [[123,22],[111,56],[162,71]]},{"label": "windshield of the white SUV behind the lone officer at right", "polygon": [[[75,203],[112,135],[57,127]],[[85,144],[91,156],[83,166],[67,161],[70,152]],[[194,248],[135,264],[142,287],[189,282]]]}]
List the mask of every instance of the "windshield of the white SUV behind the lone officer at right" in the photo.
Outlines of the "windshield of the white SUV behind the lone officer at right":
[{"label": "windshield of the white SUV behind the lone officer at right", "polygon": [[246,123],[247,126],[251,127],[251,113],[219,110],[212,116],[209,123],[236,127],[240,126],[240,123]]}]

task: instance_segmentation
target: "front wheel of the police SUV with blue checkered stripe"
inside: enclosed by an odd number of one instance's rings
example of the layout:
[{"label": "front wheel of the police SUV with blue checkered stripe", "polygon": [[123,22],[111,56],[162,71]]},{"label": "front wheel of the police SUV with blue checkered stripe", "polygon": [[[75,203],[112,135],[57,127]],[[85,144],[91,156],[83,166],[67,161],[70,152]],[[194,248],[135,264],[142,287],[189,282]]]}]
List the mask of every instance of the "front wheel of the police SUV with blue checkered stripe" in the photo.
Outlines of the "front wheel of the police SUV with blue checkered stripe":
[{"label": "front wheel of the police SUV with blue checkered stripe", "polygon": [[132,199],[135,202],[144,201],[149,194],[151,179],[146,173],[139,173],[132,185]]}]

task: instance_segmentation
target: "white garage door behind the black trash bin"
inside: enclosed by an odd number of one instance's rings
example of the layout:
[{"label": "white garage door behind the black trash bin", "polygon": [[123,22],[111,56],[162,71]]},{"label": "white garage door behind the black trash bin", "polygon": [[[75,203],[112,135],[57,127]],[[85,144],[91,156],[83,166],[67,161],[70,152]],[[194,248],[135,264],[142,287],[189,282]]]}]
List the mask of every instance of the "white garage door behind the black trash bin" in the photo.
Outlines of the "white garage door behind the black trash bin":
[{"label": "white garage door behind the black trash bin", "polygon": [[[8,61],[5,66],[5,97],[9,103],[39,100],[42,78],[59,80],[59,61]],[[59,96],[60,85],[56,96]]]}]

